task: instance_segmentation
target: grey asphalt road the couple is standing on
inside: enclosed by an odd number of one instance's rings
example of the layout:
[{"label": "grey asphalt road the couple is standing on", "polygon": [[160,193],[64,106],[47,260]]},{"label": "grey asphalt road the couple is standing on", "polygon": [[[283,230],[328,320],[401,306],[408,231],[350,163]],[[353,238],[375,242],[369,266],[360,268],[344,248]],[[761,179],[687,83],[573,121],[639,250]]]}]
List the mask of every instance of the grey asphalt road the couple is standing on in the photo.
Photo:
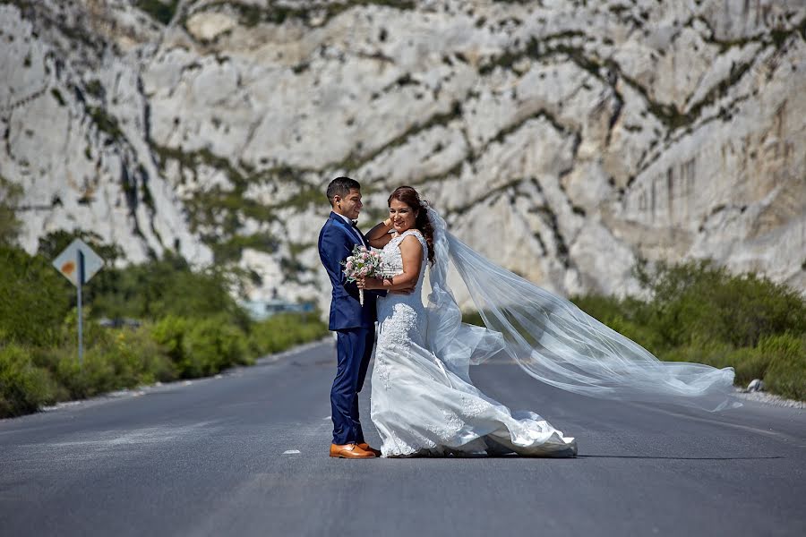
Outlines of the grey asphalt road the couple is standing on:
[{"label": "grey asphalt road the couple is standing on", "polygon": [[0,421],[0,535],[806,535],[806,411],[604,402],[491,364],[477,384],[578,458],[337,460],[334,367],[315,345]]}]

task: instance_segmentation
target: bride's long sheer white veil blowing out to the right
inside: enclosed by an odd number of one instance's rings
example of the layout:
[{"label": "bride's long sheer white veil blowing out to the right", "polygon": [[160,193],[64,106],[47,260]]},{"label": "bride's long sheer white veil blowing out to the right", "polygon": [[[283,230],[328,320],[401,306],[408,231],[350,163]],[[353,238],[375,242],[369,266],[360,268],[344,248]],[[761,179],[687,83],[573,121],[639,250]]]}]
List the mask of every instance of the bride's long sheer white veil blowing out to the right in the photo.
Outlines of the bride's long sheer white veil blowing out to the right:
[{"label": "bride's long sheer white veil blowing out to the right", "polygon": [[[434,228],[426,342],[446,367],[469,379],[469,366],[506,353],[535,379],[584,396],[670,402],[709,411],[740,406],[731,397],[733,368],[661,362],[628,337],[501,268],[448,232],[428,207]],[[462,322],[448,286],[451,263],[485,327]]]}]

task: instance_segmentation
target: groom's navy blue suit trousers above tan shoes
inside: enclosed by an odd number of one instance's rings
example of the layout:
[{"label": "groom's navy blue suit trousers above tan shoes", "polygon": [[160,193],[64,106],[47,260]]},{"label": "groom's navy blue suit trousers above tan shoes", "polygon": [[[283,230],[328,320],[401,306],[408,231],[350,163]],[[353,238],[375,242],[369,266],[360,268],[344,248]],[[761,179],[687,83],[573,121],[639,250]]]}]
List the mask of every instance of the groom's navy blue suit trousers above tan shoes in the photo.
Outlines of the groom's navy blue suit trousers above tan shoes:
[{"label": "groom's navy blue suit trousers above tan shoes", "polygon": [[364,386],[366,370],[373,355],[374,328],[336,330],[339,365],[330,389],[330,415],[333,419],[333,443],[360,444],[364,431],[358,417],[358,392]]}]

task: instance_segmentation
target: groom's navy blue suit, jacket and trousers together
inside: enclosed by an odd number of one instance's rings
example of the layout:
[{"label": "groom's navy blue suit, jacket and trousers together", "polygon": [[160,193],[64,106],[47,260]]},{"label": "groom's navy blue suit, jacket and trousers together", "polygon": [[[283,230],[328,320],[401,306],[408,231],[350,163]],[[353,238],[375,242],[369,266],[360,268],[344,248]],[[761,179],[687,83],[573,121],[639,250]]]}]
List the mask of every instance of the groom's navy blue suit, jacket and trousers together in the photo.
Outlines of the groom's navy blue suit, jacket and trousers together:
[{"label": "groom's navy blue suit, jacket and trousers together", "polygon": [[358,418],[358,392],[364,386],[373,354],[375,302],[379,293],[364,291],[362,307],[358,302],[358,286],[355,282],[347,283],[341,265],[356,244],[361,243],[361,232],[331,212],[319,234],[319,257],[333,286],[329,328],[337,335],[339,365],[330,389],[330,407],[333,443],[338,445],[364,442],[364,431]]}]

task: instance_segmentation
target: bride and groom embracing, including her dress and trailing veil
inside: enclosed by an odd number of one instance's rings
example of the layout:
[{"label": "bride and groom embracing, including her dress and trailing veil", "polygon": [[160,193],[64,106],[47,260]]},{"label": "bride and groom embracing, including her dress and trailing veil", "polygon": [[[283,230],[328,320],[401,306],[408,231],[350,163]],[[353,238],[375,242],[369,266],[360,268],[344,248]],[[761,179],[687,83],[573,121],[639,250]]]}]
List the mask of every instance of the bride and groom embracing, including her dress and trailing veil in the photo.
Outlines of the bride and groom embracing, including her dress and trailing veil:
[{"label": "bride and groom embracing, including her dress and trailing veil", "polygon": [[[511,412],[474,386],[469,366],[501,353],[532,377],[582,395],[708,410],[736,405],[728,397],[732,368],[659,362],[562,297],[484,259],[448,232],[415,189],[392,192],[389,218],[367,234],[356,227],[363,207],[359,183],[338,177],[327,196],[332,211],[319,235],[319,253],[333,286],[329,328],[337,334],[338,355],[330,456],[576,456],[576,441],[543,417]],[[342,262],[356,245],[381,249],[386,277],[347,282]],[[449,263],[484,327],[461,322],[447,283]],[[380,449],[366,443],[358,413],[373,345],[371,418]]]}]

